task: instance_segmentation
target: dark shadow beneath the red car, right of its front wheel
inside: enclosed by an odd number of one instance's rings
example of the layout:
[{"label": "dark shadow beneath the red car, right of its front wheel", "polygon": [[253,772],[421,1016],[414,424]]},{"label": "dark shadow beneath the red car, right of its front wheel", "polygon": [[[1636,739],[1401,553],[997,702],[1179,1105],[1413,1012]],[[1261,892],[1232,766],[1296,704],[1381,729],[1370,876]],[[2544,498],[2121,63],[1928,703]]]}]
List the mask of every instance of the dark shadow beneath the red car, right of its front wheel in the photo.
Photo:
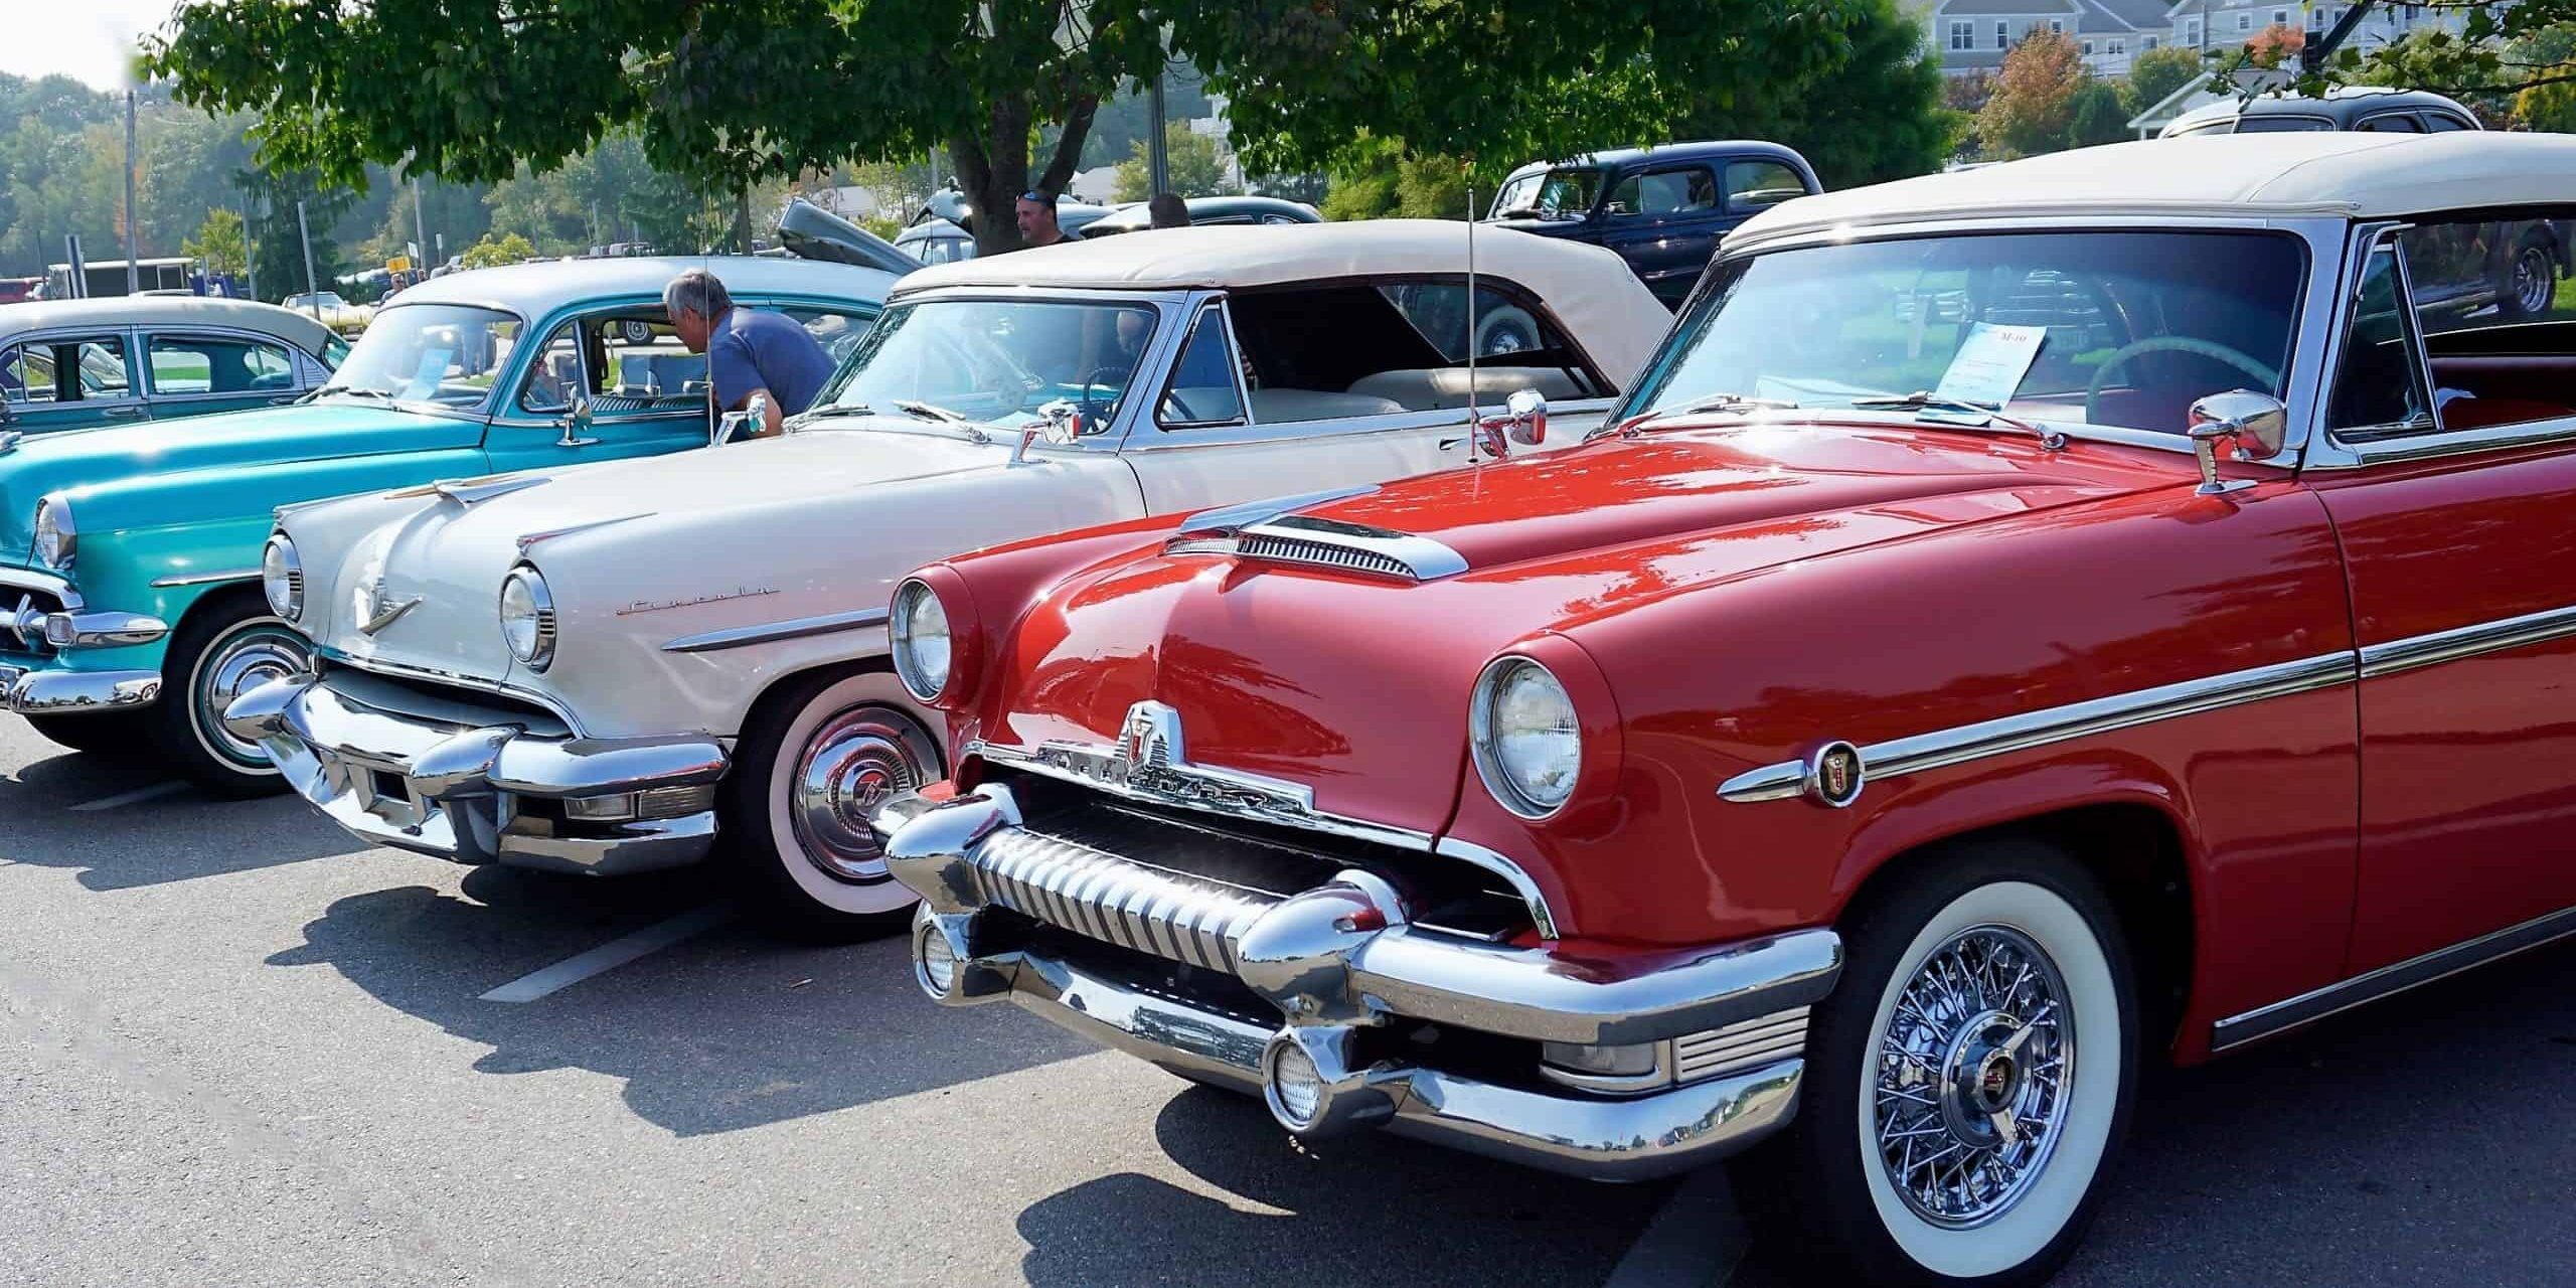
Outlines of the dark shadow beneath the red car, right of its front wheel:
[{"label": "dark shadow beneath the red car, right of its front wheel", "polygon": [[[2148,1072],[2056,1288],[2566,1283],[2576,1265],[2576,945]],[[1754,1234],[1731,1288],[1793,1283]]]}]

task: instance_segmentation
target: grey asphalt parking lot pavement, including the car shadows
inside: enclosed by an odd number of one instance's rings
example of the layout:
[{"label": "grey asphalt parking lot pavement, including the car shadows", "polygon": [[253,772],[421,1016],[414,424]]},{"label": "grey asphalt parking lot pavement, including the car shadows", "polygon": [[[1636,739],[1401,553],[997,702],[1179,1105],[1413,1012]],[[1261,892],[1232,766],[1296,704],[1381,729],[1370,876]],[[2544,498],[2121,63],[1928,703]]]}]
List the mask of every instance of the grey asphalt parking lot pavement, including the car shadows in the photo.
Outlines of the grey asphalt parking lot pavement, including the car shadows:
[{"label": "grey asphalt parking lot pavement, including the car shadows", "polygon": [[[2576,948],[2154,1077],[2066,1285],[2576,1280]],[[714,873],[371,850],[0,719],[0,1283],[1772,1285],[1728,1177],[1306,1151]]]}]

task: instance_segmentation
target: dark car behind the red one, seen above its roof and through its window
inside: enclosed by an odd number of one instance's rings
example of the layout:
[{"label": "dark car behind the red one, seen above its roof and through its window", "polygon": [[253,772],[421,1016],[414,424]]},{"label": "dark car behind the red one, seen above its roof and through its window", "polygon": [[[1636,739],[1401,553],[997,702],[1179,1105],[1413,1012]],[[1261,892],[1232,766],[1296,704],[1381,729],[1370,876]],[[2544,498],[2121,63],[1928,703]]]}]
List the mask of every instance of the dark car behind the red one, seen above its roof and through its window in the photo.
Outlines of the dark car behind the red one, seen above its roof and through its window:
[{"label": "dark car behind the red one, seen above its roof and through its window", "polygon": [[[2370,134],[2465,134],[2486,129],[2478,113],[2432,90],[2339,85],[2326,98],[2267,93],[2187,111],[2161,139],[2202,134],[2311,134],[2357,129]],[[2442,245],[2409,263],[2419,273],[2416,301],[2434,317],[2455,319],[2494,307],[2501,317],[2537,317],[2558,299],[2558,278],[2576,276],[2576,222],[2504,219],[2450,224]]]}]

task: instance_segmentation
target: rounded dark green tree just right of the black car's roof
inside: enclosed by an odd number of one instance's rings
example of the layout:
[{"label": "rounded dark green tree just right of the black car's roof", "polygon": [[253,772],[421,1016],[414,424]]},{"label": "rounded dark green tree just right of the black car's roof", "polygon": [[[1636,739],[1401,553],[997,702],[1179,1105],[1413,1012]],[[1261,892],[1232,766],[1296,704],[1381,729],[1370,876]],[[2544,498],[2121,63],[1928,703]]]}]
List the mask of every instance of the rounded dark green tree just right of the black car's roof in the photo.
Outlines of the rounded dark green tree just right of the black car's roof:
[{"label": "rounded dark green tree just right of the black car's roof", "polygon": [[1940,170],[1968,129],[1942,106],[1947,77],[1919,21],[1896,0],[1868,0],[1842,28],[1850,62],[1832,85],[1780,85],[1734,108],[1703,106],[1685,139],[1777,139],[1816,167],[1826,188],[1886,183]]}]

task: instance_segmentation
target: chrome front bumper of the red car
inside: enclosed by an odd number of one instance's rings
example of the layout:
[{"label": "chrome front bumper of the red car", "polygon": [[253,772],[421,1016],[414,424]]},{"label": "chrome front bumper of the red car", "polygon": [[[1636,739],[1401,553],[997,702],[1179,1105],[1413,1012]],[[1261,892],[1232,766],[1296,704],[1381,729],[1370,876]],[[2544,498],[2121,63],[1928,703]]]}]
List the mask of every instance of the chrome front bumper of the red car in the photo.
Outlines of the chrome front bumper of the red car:
[{"label": "chrome front bumper of the red car", "polygon": [[[1425,930],[1365,871],[1291,896],[1193,881],[1025,829],[1005,786],[896,799],[876,829],[922,896],[914,979],[943,1005],[1018,1002],[1260,1095],[1298,1136],[1381,1126],[1595,1180],[1700,1167],[1783,1126],[1806,1072],[1806,1007],[1842,971],[1832,930],[1607,966]],[[1234,976],[1265,1012],[1133,963]],[[1533,1074],[1445,1069],[1376,1041],[1414,1023],[1522,1041]],[[1667,1077],[1633,1095],[1551,1084],[1535,1077],[1538,1043],[1654,1046]]]}]

